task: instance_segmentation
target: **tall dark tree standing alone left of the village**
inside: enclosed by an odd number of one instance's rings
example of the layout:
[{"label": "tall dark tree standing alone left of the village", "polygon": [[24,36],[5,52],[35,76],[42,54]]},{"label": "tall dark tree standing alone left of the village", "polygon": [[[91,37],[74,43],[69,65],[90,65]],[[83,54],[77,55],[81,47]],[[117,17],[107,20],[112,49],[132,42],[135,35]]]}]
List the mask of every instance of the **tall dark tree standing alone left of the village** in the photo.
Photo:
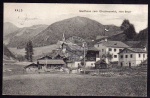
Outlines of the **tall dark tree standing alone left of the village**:
[{"label": "tall dark tree standing alone left of the village", "polygon": [[25,58],[27,59],[27,61],[32,62],[33,60],[33,46],[32,46],[32,41],[29,40],[29,42],[27,42],[26,47],[25,47]]}]

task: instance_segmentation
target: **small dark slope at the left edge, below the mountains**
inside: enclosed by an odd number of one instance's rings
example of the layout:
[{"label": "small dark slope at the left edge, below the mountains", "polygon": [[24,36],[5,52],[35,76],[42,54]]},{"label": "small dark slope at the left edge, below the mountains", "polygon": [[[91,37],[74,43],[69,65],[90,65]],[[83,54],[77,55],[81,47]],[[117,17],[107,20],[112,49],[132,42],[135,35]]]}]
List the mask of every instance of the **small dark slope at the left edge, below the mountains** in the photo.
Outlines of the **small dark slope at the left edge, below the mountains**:
[{"label": "small dark slope at the left edge, below the mountains", "polygon": [[3,44],[3,59],[12,60],[16,59],[15,55]]}]

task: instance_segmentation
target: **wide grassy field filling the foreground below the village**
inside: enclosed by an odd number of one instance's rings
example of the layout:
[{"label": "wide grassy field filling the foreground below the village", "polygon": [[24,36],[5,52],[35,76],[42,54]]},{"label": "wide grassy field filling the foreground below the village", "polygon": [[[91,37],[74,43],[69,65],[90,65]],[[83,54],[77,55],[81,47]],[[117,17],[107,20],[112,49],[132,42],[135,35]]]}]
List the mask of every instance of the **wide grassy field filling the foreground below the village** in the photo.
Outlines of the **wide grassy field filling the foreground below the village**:
[{"label": "wide grassy field filling the foreground below the village", "polygon": [[146,76],[27,74],[3,77],[3,95],[146,96]]}]

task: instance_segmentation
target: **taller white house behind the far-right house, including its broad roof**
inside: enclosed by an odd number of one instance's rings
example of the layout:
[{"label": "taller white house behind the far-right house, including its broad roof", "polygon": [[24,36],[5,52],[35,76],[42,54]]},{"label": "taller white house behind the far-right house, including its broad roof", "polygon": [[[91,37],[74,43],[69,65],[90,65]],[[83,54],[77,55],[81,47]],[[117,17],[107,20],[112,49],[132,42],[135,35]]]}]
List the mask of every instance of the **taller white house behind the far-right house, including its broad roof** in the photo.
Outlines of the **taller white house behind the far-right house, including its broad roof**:
[{"label": "taller white house behind the far-right house, including its broad roof", "polygon": [[121,41],[108,41],[105,39],[96,43],[94,47],[99,50],[100,57],[110,53],[112,55],[111,62],[116,62],[119,60],[118,53],[129,46]]}]

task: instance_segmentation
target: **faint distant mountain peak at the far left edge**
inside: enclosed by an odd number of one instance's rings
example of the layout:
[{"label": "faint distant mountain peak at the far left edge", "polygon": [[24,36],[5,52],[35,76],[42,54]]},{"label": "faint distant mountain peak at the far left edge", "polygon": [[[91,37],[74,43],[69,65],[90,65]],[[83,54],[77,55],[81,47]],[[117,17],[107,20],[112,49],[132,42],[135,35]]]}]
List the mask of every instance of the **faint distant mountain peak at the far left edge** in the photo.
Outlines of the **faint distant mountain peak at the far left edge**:
[{"label": "faint distant mountain peak at the far left edge", "polygon": [[14,24],[10,23],[10,22],[5,22],[4,23],[4,36],[11,34],[13,32],[15,32],[16,30],[18,30],[19,28],[17,26],[15,26]]}]

